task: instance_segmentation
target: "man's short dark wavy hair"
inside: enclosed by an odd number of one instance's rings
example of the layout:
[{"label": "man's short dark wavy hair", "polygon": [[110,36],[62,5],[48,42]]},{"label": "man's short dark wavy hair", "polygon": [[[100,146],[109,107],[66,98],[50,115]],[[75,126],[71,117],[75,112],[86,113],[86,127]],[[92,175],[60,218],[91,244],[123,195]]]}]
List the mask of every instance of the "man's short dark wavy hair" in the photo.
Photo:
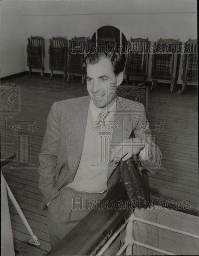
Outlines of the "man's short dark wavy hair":
[{"label": "man's short dark wavy hair", "polygon": [[84,74],[86,74],[87,64],[99,63],[102,58],[107,58],[111,61],[115,76],[119,75],[119,73],[124,70],[125,59],[123,56],[121,56],[119,53],[108,53],[106,51],[103,51],[96,53],[88,53],[86,55],[86,57],[82,60]]}]

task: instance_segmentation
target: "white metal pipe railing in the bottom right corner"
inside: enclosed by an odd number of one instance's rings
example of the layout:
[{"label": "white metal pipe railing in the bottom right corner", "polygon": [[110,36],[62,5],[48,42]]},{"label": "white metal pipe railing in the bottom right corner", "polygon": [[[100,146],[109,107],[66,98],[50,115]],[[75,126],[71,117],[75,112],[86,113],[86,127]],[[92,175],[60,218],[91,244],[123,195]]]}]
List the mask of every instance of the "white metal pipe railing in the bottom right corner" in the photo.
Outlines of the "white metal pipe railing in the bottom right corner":
[{"label": "white metal pipe railing in the bottom right corner", "polygon": [[194,238],[197,238],[199,239],[199,236],[198,235],[195,235],[195,234],[192,234],[192,233],[189,233],[187,231],[183,231],[183,230],[179,230],[179,229],[175,229],[175,228],[171,228],[171,227],[168,227],[168,226],[165,226],[165,225],[162,225],[162,224],[158,224],[156,222],[153,222],[153,221],[149,221],[149,220],[146,220],[146,219],[141,219],[141,218],[138,218],[134,215],[134,213],[126,220],[126,222],[110,237],[110,239],[104,244],[104,246],[101,248],[101,250],[98,252],[97,255],[102,255],[103,252],[108,248],[108,246],[112,243],[112,241],[116,238],[116,236],[122,231],[122,229],[124,229],[126,227],[126,237],[124,239],[124,245],[120,248],[120,250],[118,251],[118,253],[116,255],[121,255],[124,250],[126,250],[126,255],[132,255],[132,252],[133,252],[133,244],[137,244],[139,246],[142,246],[142,247],[145,247],[147,249],[151,249],[151,250],[154,250],[156,252],[160,252],[160,253],[163,253],[163,254],[166,254],[166,255],[178,255],[178,254],[175,254],[175,253],[172,253],[172,252],[169,252],[169,251],[165,251],[165,250],[162,250],[160,248],[157,248],[157,247],[154,247],[154,246],[151,246],[151,245],[148,245],[148,244],[145,244],[145,243],[141,243],[139,241],[136,241],[134,240],[133,238],[133,222],[134,221],[139,221],[139,222],[142,222],[142,223],[146,223],[146,224],[149,224],[149,225],[152,225],[152,226],[155,226],[155,227],[158,227],[158,228],[163,228],[163,229],[166,229],[166,230],[169,230],[169,231],[173,231],[173,232],[176,232],[176,233],[179,233],[179,234],[183,234],[183,235],[186,235],[186,236],[190,236],[190,237],[194,237]]}]

